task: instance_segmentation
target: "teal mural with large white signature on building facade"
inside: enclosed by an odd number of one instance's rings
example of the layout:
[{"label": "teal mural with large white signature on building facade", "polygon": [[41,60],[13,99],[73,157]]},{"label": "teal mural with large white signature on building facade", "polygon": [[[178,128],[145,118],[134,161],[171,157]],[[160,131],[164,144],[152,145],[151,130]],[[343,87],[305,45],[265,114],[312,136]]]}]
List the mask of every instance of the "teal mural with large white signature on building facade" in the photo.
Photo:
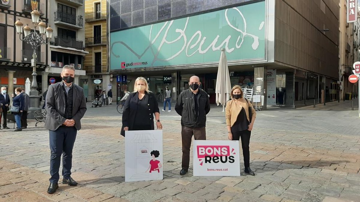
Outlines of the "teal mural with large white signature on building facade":
[{"label": "teal mural with large white signature on building facade", "polygon": [[[120,23],[120,22],[119,22]],[[265,1],[111,33],[111,69],[265,59]]]}]

